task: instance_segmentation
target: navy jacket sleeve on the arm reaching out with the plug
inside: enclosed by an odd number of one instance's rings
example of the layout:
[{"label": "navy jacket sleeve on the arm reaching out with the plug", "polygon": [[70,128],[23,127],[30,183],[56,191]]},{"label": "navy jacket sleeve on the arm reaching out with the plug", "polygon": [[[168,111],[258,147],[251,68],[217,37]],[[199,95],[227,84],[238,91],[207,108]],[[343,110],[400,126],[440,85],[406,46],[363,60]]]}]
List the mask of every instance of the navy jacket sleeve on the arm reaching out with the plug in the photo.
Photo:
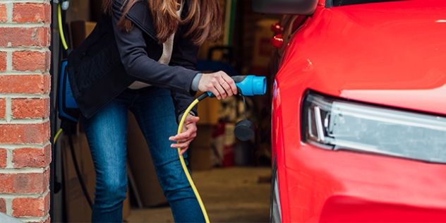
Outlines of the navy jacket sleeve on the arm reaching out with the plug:
[{"label": "navy jacket sleeve on the arm reaching out with the plug", "polygon": [[150,49],[147,49],[143,30],[138,25],[133,25],[130,32],[117,27],[122,15],[121,1],[123,0],[114,1],[111,20],[121,62],[128,75],[159,88],[166,88],[183,95],[194,95],[191,83],[198,71],[183,66],[159,64],[147,56],[146,50]]}]

